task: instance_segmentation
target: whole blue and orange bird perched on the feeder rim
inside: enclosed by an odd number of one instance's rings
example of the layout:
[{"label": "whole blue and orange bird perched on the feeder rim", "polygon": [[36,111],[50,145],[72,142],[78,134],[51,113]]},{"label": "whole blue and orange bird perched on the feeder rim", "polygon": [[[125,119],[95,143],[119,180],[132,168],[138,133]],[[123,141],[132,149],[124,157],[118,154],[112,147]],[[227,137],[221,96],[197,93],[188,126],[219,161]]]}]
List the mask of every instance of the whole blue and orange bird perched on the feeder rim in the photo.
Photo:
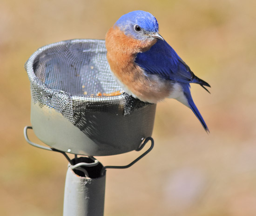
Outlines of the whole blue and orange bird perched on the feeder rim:
[{"label": "whole blue and orange bird perched on the feeder rim", "polygon": [[124,92],[148,103],[175,98],[188,106],[209,132],[190,93],[190,83],[210,85],[199,79],[158,33],[158,22],[148,12],[124,14],[106,34],[111,72]]}]

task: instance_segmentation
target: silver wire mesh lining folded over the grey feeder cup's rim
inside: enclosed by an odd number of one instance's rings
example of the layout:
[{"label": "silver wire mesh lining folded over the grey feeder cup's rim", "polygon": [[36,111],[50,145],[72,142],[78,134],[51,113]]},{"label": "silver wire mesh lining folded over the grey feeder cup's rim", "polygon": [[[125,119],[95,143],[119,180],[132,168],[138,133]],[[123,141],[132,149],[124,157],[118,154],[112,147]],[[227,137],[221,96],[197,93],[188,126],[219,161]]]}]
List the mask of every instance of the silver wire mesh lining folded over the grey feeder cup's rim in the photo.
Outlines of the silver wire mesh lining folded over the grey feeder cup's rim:
[{"label": "silver wire mesh lining folded over the grey feeder cup's rim", "polygon": [[[146,103],[123,93],[115,82],[106,57],[104,40],[74,39],[43,46],[27,60],[33,103],[59,111],[81,131],[85,112],[112,112],[123,116]],[[88,132],[88,131],[87,131]]]}]

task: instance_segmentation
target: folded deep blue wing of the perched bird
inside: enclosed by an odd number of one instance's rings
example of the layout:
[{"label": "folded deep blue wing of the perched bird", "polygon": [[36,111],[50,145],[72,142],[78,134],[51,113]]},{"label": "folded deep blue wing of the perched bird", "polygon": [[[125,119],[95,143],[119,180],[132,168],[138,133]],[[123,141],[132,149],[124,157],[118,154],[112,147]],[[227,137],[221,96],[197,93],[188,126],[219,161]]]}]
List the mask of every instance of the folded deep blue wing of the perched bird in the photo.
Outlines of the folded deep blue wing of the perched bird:
[{"label": "folded deep blue wing of the perched bird", "polygon": [[164,79],[209,86],[194,75],[189,66],[166,41],[157,40],[147,52],[138,53],[135,63],[141,66],[145,72],[157,74]]}]

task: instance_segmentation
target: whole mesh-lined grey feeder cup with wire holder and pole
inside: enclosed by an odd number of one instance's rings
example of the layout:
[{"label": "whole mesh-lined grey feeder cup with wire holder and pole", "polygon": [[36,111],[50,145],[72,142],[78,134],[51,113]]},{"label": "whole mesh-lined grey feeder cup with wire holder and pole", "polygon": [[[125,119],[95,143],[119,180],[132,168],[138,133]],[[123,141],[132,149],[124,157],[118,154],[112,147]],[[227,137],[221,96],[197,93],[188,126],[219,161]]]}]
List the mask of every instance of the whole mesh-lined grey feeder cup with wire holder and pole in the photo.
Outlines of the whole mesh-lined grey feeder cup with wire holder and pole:
[{"label": "whole mesh-lined grey feeder cup with wire holder and pole", "polygon": [[[111,75],[106,53],[104,40],[66,40],[41,47],[25,65],[33,131],[50,148],[32,143],[28,126],[27,142],[66,157],[65,152],[75,154],[73,160],[67,157],[65,216],[103,215],[106,168],[127,168],[153,147],[156,105],[126,93],[109,96],[122,89]],[[127,166],[103,167],[93,157],[139,151],[149,139],[151,148]]]}]

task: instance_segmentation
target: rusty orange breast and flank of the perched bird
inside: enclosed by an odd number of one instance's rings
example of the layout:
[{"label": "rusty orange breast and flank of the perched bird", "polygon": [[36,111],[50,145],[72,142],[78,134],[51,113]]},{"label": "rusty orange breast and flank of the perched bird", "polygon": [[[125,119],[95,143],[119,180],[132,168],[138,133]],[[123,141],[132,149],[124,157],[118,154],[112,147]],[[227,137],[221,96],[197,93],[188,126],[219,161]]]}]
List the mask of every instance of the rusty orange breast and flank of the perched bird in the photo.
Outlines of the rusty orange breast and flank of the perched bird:
[{"label": "rusty orange breast and flank of the perched bird", "polygon": [[152,38],[140,41],[128,37],[116,26],[111,27],[106,35],[111,71],[134,97],[149,103],[157,103],[168,97],[172,86],[168,80],[157,75],[146,76],[143,69],[135,64],[136,54],[149,50],[156,41]]}]

